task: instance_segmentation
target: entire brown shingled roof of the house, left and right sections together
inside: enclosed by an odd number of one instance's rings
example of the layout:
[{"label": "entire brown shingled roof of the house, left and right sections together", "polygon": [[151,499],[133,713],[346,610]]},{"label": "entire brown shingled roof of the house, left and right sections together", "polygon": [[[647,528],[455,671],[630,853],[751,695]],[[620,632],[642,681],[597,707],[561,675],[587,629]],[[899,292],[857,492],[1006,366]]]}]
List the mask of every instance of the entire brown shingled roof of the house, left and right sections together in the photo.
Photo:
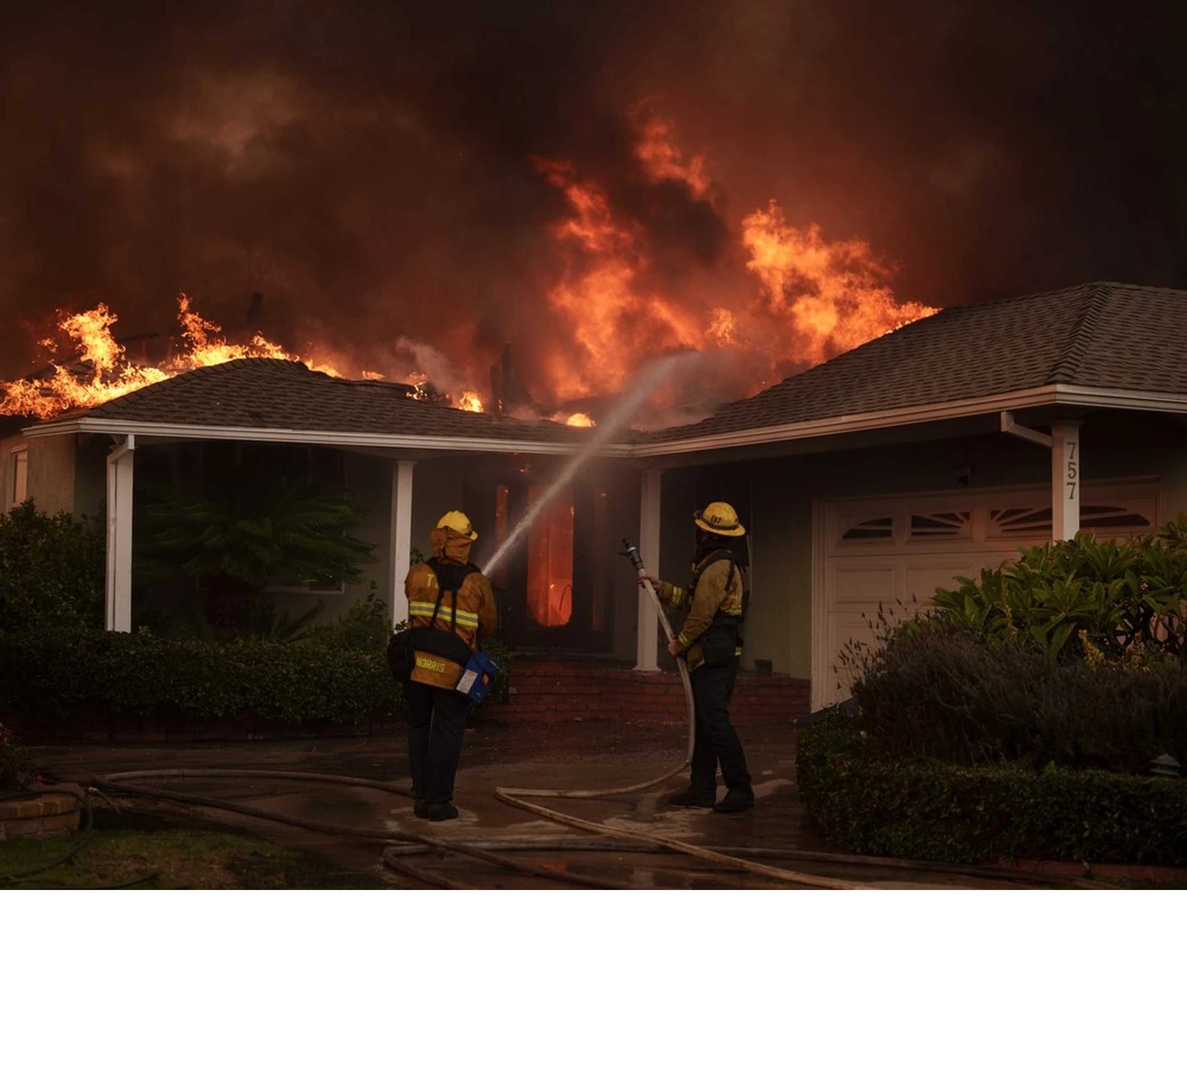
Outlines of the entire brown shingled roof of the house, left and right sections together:
[{"label": "entire brown shingled roof of the house, left and right sections together", "polygon": [[[729,445],[732,436],[770,439],[826,432],[899,412],[922,421],[947,405],[1042,387],[1118,390],[1187,400],[1187,291],[1090,282],[1065,290],[948,307],[785,379],[700,422],[628,432],[642,454]],[[927,409],[922,415],[915,409]],[[914,414],[913,414],[914,413]],[[569,451],[589,431],[550,420],[462,412],[412,400],[404,387],[311,371],[286,360],[247,358],[186,371],[99,405],[82,418],[123,427],[248,428],[407,440],[516,443]],[[821,427],[813,428],[813,424]],[[787,432],[779,428],[788,427]],[[763,431],[770,428],[769,434]],[[833,427],[829,432],[836,432]],[[716,441],[716,444],[713,444]],[[698,444],[699,443],[699,444]],[[497,445],[495,445],[497,447]]]}]

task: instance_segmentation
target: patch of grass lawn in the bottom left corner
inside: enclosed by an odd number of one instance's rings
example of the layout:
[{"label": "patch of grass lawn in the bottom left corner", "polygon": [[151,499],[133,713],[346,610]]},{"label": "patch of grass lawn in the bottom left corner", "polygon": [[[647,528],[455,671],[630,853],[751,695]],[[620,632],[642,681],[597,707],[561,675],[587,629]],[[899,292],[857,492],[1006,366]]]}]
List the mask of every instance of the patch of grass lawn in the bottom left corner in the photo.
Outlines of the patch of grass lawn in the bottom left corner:
[{"label": "patch of grass lawn in the bottom left corner", "polygon": [[0,889],[382,890],[380,876],[246,834],[93,829],[0,841]]}]

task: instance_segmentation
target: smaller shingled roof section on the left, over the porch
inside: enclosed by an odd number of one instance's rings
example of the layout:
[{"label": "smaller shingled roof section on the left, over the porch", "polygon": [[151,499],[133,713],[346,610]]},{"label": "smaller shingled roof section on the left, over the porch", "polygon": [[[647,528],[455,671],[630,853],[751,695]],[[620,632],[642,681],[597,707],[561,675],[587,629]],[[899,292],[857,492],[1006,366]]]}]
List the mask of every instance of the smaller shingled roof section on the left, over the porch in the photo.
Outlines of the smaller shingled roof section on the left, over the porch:
[{"label": "smaller shingled roof section on the left, over the porch", "polygon": [[[248,357],[202,367],[87,409],[88,420],[170,427],[248,427],[277,431],[476,438],[559,445],[580,428],[463,412],[405,395],[404,387],[351,381],[303,363]],[[80,418],[70,413],[56,421]]]}]

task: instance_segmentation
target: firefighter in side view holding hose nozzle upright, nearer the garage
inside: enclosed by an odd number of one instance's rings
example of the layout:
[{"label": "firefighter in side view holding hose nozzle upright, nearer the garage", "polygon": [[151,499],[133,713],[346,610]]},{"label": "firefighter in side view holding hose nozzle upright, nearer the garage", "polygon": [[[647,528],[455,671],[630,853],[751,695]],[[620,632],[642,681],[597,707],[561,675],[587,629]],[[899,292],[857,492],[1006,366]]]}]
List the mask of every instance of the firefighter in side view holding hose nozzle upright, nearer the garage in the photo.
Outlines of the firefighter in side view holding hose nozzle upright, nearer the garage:
[{"label": "firefighter in side view holding hose nozzle upright, nearer the garage", "polygon": [[[692,774],[688,788],[668,801],[715,812],[742,812],[754,807],[754,789],[742,742],[730,723],[730,698],[742,655],[745,603],[742,565],[747,558],[736,547],[744,547],[740,539],[745,527],[724,501],[715,501],[694,513],[693,522],[697,553],[688,585],[675,586],[650,576],[639,579],[640,584],[649,581],[664,604],[688,614],[680,632],[668,642],[668,653],[685,657],[692,682],[696,719]],[[725,783],[721,801],[718,765]]]}]

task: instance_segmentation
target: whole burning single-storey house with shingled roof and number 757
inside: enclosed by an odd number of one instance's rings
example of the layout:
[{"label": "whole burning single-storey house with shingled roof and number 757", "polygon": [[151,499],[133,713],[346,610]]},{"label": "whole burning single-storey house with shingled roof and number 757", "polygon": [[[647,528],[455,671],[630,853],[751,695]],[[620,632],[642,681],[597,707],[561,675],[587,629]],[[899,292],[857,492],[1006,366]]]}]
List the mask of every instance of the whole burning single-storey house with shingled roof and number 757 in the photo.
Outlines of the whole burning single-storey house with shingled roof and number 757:
[{"label": "whole burning single-storey house with shingled roof and number 757", "polygon": [[[1187,292],[1090,284],[946,309],[699,421],[622,430],[592,450],[597,427],[231,360],[9,426],[0,492],[6,508],[27,495],[87,514],[106,498],[116,629],[138,611],[135,504],[152,472],[299,468],[349,490],[367,516],[360,536],[377,546],[367,577],[394,619],[438,515],[466,510],[483,564],[553,494],[494,570],[506,637],[642,669],[666,654],[621,538],[680,576],[691,513],[728,500],[751,534],[743,665],[811,680],[819,705],[844,692],[840,648],[868,636],[880,605],[926,602],[1021,546],[1150,532],[1187,511],[1185,414]],[[272,596],[344,609],[358,593]]]}]

